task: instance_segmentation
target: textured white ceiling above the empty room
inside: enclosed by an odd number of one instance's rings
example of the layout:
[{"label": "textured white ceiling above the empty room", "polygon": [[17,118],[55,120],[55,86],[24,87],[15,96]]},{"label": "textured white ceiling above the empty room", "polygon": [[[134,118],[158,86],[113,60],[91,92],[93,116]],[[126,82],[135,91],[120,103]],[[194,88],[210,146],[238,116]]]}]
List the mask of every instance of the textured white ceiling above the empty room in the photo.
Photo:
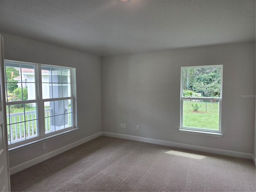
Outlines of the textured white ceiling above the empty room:
[{"label": "textured white ceiling above the empty room", "polygon": [[255,0],[0,0],[0,32],[98,56],[255,41]]}]

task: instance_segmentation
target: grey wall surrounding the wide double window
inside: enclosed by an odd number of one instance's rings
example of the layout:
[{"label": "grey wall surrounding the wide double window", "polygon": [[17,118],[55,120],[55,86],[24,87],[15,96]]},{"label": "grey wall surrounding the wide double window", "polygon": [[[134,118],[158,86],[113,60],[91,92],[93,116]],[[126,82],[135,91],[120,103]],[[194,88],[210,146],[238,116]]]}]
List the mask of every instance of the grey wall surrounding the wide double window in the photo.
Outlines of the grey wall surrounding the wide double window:
[{"label": "grey wall surrounding the wide double window", "polygon": [[101,132],[100,57],[1,33],[4,58],[76,68],[78,132],[10,154],[10,167],[28,162],[63,146]]}]

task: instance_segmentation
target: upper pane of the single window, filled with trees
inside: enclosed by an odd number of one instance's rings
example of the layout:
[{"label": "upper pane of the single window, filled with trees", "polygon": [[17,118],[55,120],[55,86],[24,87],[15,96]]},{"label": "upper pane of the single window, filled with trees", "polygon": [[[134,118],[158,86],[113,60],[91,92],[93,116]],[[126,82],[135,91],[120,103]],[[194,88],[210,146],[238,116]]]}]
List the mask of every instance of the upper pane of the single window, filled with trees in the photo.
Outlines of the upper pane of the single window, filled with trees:
[{"label": "upper pane of the single window, filled with trees", "polygon": [[184,68],[183,96],[220,97],[221,68]]}]

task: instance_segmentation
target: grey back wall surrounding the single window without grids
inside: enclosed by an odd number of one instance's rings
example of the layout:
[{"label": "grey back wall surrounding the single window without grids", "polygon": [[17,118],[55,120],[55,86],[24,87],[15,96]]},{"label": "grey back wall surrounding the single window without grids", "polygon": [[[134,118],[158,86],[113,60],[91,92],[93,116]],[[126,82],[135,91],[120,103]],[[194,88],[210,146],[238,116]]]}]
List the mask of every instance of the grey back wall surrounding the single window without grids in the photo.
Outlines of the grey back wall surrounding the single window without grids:
[{"label": "grey back wall surrounding the single window without grids", "polygon": [[[215,64],[223,136],[180,133],[180,67]],[[255,98],[241,95],[255,94],[255,42],[103,57],[101,73],[103,132],[252,154]]]}]

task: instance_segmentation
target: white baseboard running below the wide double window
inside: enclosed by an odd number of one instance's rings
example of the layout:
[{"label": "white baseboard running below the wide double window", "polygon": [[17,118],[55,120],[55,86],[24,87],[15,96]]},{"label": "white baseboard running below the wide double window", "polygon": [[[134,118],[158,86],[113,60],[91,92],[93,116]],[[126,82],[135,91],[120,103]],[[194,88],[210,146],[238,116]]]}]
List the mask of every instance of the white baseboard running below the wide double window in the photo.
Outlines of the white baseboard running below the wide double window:
[{"label": "white baseboard running below the wide double window", "polygon": [[32,160],[29,160],[29,161],[24,162],[24,163],[22,163],[20,165],[11,167],[10,168],[10,174],[12,175],[12,174],[17,173],[17,172],[19,172],[21,170],[29,168],[29,167],[31,167],[31,166],[33,166],[35,164],[38,164],[38,163],[40,163],[40,162],[42,162],[44,160],[52,158],[52,157],[54,157],[54,156],[56,156],[58,154],[61,154],[61,153],[65,152],[65,151],[67,151],[67,150],[70,150],[70,149],[72,149],[72,148],[74,148],[76,146],[79,146],[79,145],[81,145],[81,144],[83,144],[85,142],[88,142],[88,141],[90,141],[90,140],[92,140],[94,138],[97,138],[97,137],[99,137],[101,135],[102,135],[102,132],[98,132],[98,133],[96,133],[96,134],[94,134],[92,136],[88,136],[88,137],[86,137],[86,138],[84,138],[82,140],[79,140],[79,141],[76,141],[76,142],[74,142],[72,144],[66,145],[66,146],[64,146],[62,148],[59,148],[57,150],[54,150],[54,151],[52,151],[50,153],[44,154],[44,155],[39,156],[37,158],[34,158]]}]

